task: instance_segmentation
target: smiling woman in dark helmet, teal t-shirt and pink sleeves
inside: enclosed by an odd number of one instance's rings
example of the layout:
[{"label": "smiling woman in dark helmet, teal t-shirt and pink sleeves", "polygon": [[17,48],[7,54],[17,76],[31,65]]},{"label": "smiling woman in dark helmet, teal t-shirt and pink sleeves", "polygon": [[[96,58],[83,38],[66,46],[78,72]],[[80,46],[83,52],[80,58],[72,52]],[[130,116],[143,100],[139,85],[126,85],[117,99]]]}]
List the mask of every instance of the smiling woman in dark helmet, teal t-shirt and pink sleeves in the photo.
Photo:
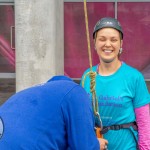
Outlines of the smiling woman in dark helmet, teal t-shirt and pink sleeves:
[{"label": "smiling woman in dark helmet, teal t-shirt and pink sleeves", "polygon": [[[150,149],[150,129],[145,132],[150,125],[150,108],[145,107],[150,104],[150,95],[142,73],[120,60],[123,35],[117,19],[106,17],[97,22],[93,39],[99,63],[84,72],[81,82],[93,102],[91,87],[95,81],[96,106],[103,124],[101,133],[108,140],[108,149]],[[90,72],[95,73],[94,79]]]}]

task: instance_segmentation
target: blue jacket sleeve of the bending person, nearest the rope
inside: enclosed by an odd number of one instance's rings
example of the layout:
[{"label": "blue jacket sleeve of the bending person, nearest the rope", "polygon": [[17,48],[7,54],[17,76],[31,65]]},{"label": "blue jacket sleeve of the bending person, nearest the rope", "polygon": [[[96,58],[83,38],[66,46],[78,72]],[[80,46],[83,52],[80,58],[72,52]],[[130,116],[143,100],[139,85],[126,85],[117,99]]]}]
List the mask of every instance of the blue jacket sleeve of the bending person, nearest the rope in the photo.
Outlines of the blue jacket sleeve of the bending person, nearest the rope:
[{"label": "blue jacket sleeve of the bending person, nearest the rope", "polygon": [[69,150],[99,150],[94,132],[91,102],[81,86],[74,87],[62,102]]}]

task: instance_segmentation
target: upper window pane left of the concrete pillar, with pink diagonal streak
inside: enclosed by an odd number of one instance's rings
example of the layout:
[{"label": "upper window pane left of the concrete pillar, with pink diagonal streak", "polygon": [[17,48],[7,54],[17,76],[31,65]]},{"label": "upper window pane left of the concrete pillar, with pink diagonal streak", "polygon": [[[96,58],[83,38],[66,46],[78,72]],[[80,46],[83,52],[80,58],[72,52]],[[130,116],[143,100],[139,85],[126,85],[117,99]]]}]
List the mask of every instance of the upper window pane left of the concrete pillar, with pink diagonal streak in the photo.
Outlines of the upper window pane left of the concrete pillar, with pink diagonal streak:
[{"label": "upper window pane left of the concrete pillar, with pink diagonal streak", "polygon": [[[0,5],[0,73],[15,72],[14,7]],[[11,32],[12,44],[11,45]]]}]

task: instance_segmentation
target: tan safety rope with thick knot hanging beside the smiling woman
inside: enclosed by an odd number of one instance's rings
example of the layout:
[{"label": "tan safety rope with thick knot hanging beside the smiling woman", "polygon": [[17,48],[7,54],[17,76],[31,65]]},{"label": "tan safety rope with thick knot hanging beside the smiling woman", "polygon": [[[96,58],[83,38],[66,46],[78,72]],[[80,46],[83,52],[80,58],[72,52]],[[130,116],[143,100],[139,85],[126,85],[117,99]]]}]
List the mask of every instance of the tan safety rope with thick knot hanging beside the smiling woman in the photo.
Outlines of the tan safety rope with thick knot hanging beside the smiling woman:
[{"label": "tan safety rope with thick knot hanging beside the smiling woman", "polygon": [[82,86],[84,87],[84,81],[85,81],[86,77],[89,75],[89,77],[90,77],[90,92],[92,93],[93,111],[94,111],[94,115],[98,117],[99,122],[101,124],[101,128],[102,128],[102,121],[100,118],[99,107],[98,107],[98,99],[97,99],[96,91],[95,91],[95,86],[96,86],[95,78],[96,78],[97,73],[92,71],[92,56],[91,56],[91,47],[90,47],[90,36],[89,36],[86,0],[84,0],[84,15],[85,15],[85,25],[86,25],[86,36],[87,36],[87,44],[88,44],[88,56],[89,56],[90,71],[84,75],[83,80],[82,80]]}]

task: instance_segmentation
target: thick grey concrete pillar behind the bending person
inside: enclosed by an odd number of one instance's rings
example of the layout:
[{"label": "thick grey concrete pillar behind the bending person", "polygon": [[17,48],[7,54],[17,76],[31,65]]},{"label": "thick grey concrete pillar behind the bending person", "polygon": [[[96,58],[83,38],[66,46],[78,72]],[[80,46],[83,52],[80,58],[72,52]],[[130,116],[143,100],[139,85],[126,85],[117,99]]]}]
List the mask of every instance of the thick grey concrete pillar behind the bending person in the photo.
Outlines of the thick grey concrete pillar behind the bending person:
[{"label": "thick grey concrete pillar behind the bending person", "polygon": [[15,0],[16,91],[64,74],[63,0]]}]

